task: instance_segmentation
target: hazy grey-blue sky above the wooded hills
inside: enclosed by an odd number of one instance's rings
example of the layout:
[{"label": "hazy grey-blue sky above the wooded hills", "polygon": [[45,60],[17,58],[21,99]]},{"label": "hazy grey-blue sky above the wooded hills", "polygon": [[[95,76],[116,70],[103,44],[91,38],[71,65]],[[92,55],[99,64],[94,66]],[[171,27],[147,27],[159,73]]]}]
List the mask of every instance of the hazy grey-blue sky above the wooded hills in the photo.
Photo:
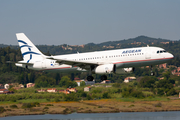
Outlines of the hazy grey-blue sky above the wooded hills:
[{"label": "hazy grey-blue sky above the wooded hills", "polygon": [[180,0],[0,0],[0,44],[17,45],[19,32],[36,45],[179,40]]}]

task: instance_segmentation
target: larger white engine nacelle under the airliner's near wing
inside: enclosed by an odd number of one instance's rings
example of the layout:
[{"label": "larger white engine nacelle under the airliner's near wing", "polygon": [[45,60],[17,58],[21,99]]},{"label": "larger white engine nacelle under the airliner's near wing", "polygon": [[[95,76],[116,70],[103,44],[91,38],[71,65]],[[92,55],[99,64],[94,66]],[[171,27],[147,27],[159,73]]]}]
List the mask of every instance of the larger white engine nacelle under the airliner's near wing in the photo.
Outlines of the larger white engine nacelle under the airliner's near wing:
[{"label": "larger white engine nacelle under the airliner's near wing", "polygon": [[110,74],[114,72],[114,64],[99,65],[94,69],[96,74]]}]

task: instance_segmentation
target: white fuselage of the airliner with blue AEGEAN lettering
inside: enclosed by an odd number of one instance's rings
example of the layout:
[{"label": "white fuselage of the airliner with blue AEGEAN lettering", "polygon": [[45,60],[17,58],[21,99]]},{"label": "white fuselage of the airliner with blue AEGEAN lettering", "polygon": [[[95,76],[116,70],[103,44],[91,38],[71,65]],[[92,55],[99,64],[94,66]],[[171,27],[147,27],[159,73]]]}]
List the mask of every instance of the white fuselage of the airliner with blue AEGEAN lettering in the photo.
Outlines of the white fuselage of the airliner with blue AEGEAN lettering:
[{"label": "white fuselage of the airliner with blue AEGEAN lettering", "polygon": [[[128,68],[128,67],[141,67],[166,63],[171,60],[174,56],[171,53],[166,52],[160,47],[137,47],[137,48],[126,48],[117,50],[107,51],[96,51],[86,53],[76,53],[67,55],[53,56],[55,59],[64,59],[78,62],[91,62],[94,64],[115,64],[117,68]],[[62,70],[66,71],[86,71],[86,64],[84,69],[74,65],[66,65],[63,63],[57,63],[56,60],[42,59],[31,61],[34,64],[28,65],[29,69],[43,70],[43,71],[54,71]],[[23,64],[16,64],[20,67],[26,67]]]}]

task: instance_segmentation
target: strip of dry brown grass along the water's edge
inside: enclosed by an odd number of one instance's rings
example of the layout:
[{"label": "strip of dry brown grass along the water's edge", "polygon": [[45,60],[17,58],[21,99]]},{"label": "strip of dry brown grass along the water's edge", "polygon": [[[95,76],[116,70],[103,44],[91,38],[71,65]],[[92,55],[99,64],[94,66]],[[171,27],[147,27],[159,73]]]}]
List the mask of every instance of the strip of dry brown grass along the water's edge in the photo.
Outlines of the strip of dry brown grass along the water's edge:
[{"label": "strip of dry brown grass along the water's edge", "polygon": [[[154,97],[148,99],[136,98],[119,98],[117,99],[101,99],[101,100],[84,100],[80,102],[46,102],[36,99],[21,100],[23,103],[39,102],[38,107],[23,109],[18,102],[13,104],[0,104],[6,111],[0,114],[3,116],[14,115],[30,115],[30,114],[69,114],[77,113],[114,113],[114,112],[155,112],[155,111],[177,111],[180,110],[180,100],[170,100],[166,97]],[[160,100],[160,101],[159,101]],[[12,105],[17,105],[18,109],[10,109]],[[47,106],[46,106],[47,105]]]}]

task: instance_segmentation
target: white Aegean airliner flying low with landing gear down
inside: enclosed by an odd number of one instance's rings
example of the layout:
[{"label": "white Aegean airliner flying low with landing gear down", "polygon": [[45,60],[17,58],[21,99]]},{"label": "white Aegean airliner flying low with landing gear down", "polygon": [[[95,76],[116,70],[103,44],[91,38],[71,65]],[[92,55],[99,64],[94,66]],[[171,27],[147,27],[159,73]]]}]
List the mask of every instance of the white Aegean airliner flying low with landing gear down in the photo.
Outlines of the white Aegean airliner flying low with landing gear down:
[{"label": "white Aegean airliner flying low with landing gear down", "polygon": [[101,80],[106,80],[107,74],[129,73],[133,72],[134,67],[162,64],[174,58],[160,47],[149,46],[46,56],[24,33],[17,33],[16,36],[23,56],[16,66],[41,71],[89,71],[88,81],[94,79],[92,74],[101,74]]}]

